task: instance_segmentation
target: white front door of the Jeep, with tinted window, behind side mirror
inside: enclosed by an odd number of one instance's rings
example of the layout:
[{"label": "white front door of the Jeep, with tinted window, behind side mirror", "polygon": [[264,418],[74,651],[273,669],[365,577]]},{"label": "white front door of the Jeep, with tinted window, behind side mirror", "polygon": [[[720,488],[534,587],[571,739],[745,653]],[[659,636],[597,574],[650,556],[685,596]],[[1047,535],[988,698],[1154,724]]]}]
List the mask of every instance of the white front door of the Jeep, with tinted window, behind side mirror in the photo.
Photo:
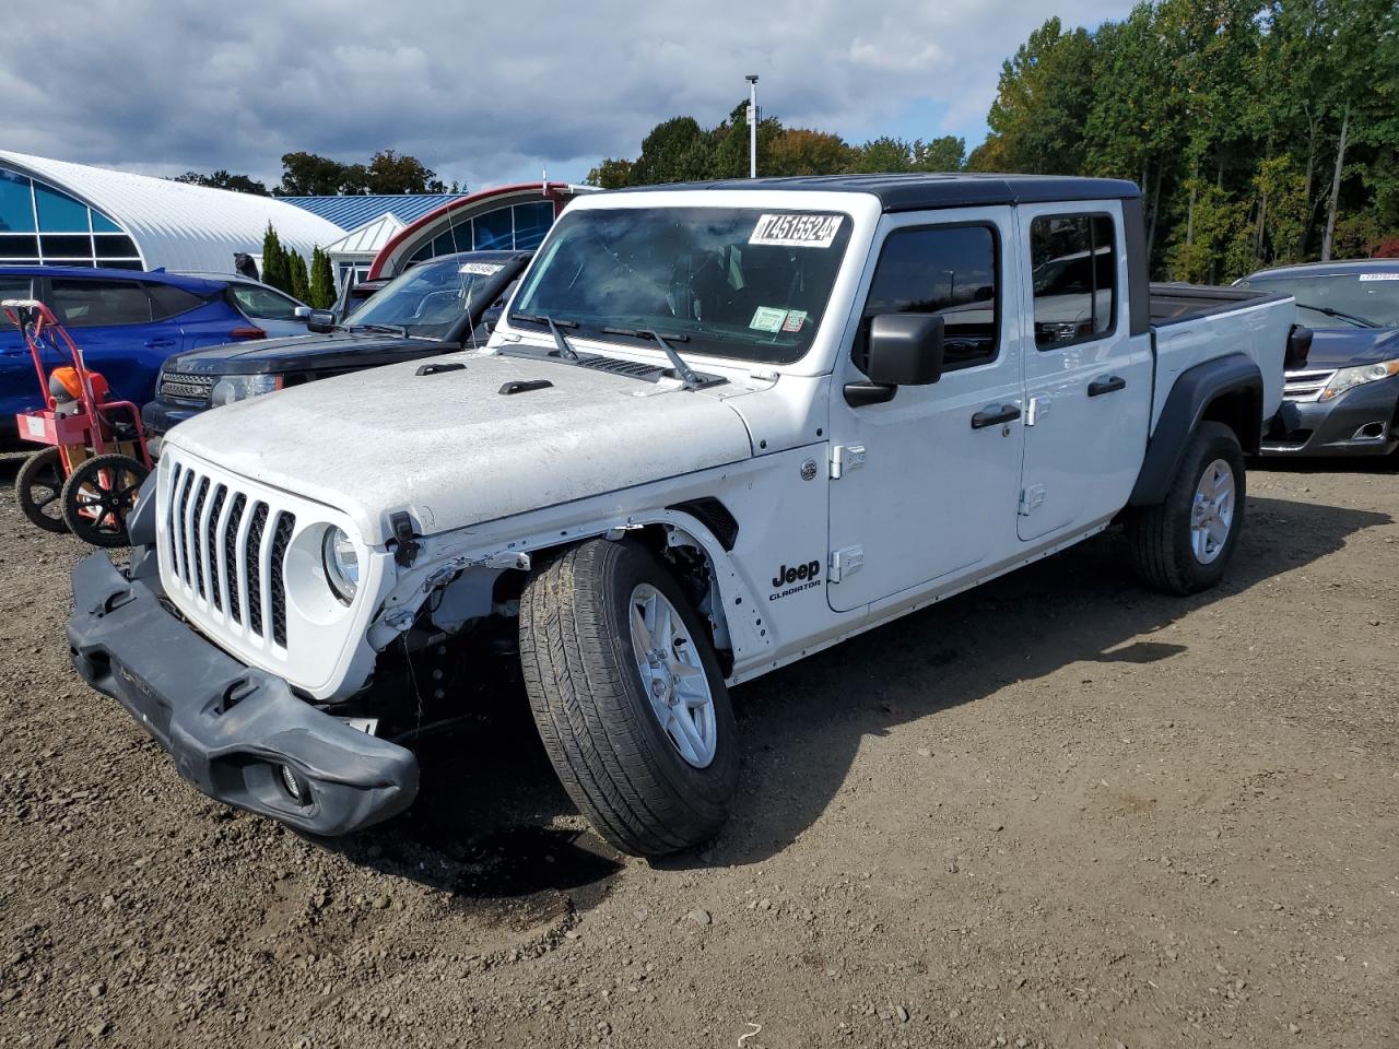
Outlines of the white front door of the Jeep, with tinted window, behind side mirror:
[{"label": "white front door of the Jeep, with tinted window, behind side mirror", "polygon": [[[951,582],[1017,547],[1023,334],[1018,276],[1004,262],[1013,243],[1009,207],[894,215],[880,227],[832,383],[835,611]],[[901,312],[943,317],[942,378],[852,407],[844,386],[865,379],[870,317]]]}]

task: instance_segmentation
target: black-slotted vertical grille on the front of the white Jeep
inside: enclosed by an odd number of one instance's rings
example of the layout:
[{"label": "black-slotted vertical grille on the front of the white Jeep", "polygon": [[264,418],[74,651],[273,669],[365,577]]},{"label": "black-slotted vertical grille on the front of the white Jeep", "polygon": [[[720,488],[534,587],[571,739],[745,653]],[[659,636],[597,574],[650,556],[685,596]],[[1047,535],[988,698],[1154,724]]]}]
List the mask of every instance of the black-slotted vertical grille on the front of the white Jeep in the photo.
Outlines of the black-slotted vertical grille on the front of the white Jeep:
[{"label": "black-slotted vertical grille on the front of the white Jeep", "polygon": [[169,485],[165,530],[176,580],[215,620],[287,648],[283,562],[295,515],[185,463],[175,463]]}]

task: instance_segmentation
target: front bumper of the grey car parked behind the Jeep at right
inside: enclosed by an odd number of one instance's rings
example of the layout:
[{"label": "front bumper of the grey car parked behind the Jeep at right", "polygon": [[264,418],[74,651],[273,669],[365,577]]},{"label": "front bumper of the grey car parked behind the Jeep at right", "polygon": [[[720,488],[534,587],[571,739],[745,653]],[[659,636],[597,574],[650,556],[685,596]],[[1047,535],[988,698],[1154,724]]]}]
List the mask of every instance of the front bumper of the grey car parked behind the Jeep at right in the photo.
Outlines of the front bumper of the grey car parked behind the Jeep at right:
[{"label": "front bumper of the grey car parked behind the Jeep at right", "polygon": [[1283,401],[1263,435],[1265,456],[1386,455],[1399,448],[1399,378],[1346,390],[1326,401]]}]

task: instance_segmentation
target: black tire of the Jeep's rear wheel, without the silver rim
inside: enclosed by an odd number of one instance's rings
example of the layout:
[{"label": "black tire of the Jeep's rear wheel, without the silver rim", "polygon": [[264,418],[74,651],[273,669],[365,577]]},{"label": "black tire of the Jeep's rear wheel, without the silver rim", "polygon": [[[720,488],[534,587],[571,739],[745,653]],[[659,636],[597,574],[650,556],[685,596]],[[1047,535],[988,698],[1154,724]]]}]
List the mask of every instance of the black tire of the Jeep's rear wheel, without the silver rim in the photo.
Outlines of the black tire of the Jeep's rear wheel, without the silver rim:
[{"label": "black tire of the Jeep's rear wheel, without the silver rim", "polygon": [[[1205,562],[1192,547],[1191,523],[1196,490],[1205,470],[1216,462],[1228,466],[1234,476],[1234,508],[1224,543]],[[1223,422],[1202,422],[1185,446],[1165,501],[1136,508],[1128,518],[1128,545],[1143,583],[1165,593],[1191,594],[1207,590],[1224,576],[1244,529],[1245,477],[1244,450],[1234,431]]]}]

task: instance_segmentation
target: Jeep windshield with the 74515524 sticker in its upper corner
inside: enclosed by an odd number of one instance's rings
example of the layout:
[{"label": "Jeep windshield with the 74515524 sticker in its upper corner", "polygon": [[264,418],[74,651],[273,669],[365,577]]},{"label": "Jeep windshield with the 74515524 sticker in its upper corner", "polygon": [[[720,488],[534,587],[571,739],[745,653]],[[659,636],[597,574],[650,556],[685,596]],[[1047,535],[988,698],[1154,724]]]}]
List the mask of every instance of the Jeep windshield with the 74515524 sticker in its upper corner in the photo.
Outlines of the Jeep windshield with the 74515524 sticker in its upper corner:
[{"label": "Jeep windshield with the 74515524 sticker in its upper corner", "polygon": [[572,322],[585,337],[658,330],[687,357],[788,364],[811,345],[851,225],[761,208],[565,213],[511,316]]}]

